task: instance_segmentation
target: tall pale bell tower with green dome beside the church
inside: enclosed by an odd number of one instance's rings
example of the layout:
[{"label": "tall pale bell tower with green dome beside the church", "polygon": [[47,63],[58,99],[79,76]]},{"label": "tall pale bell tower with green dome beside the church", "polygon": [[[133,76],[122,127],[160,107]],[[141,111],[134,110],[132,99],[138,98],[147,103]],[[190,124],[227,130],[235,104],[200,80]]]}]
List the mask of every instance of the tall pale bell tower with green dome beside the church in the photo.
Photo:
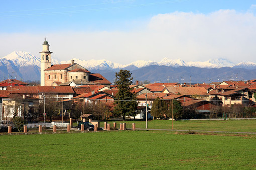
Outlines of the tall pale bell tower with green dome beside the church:
[{"label": "tall pale bell tower with green dome beside the church", "polygon": [[52,54],[52,52],[50,52],[49,46],[50,45],[48,44],[48,42],[45,39],[45,41],[43,43],[43,50],[42,50],[42,52],[39,52],[39,53],[41,53],[41,83],[40,83],[41,86],[45,85],[45,72],[44,72],[44,70],[51,67],[51,54]]}]

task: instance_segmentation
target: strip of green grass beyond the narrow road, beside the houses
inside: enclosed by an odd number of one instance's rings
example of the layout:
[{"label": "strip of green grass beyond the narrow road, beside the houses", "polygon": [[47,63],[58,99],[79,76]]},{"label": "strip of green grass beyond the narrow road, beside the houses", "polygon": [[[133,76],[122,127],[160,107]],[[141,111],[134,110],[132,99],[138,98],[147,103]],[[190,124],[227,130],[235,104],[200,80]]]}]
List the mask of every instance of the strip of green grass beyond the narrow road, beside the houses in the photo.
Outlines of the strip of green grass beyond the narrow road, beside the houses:
[{"label": "strip of green grass beyond the narrow road, beside the houses", "polygon": [[[135,123],[136,128],[145,128],[145,121],[117,121],[119,123]],[[111,123],[111,122],[109,122]],[[112,124],[111,124],[112,126]],[[170,120],[148,121],[148,128],[172,129]],[[209,130],[230,132],[256,132],[256,120],[195,120],[195,121],[173,121],[173,129],[178,130]]]}]

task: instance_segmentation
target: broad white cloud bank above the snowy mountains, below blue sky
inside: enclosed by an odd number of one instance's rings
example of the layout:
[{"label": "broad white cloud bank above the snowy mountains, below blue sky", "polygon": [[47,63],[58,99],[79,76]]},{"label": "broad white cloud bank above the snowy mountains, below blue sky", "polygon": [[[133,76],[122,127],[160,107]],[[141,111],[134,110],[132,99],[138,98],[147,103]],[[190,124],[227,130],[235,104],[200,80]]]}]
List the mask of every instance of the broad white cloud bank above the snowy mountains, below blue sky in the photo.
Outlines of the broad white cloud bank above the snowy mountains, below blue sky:
[{"label": "broad white cloud bank above the snowy mountains, below blue sky", "polygon": [[[47,36],[53,57],[107,59],[127,64],[139,59],[160,61],[180,58],[206,61],[226,58],[256,62],[256,17],[252,12],[219,10],[210,14],[159,14],[133,31],[51,32],[0,34],[0,56],[24,50],[39,56]],[[135,25],[138,28],[138,25]]]}]

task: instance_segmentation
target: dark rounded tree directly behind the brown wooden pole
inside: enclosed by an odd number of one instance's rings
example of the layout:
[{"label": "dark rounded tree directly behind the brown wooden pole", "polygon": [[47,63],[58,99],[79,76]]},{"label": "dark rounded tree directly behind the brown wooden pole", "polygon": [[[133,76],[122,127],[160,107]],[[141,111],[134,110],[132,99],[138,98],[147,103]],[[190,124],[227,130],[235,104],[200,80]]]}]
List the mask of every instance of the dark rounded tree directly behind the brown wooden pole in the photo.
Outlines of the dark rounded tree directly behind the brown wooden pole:
[{"label": "dark rounded tree directly behind the brown wooden pole", "polygon": [[[167,116],[169,118],[172,118],[172,104],[169,104],[169,111]],[[181,102],[178,100],[173,100],[173,118],[175,120],[182,119],[183,118],[183,107],[181,105]]]}]

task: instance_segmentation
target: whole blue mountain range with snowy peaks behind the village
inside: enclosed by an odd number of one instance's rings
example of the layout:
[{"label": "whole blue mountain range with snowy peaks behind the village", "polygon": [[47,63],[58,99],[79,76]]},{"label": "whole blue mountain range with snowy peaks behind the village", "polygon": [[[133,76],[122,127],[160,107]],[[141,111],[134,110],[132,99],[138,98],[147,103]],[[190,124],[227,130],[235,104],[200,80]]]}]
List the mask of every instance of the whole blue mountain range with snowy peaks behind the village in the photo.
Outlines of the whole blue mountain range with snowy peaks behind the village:
[{"label": "whole blue mountain range with snowy peaks behind the village", "polygon": [[[205,62],[185,62],[181,59],[163,58],[160,62],[138,60],[130,64],[119,64],[108,60],[81,60],[76,63],[92,73],[101,73],[114,82],[115,72],[130,70],[134,80],[150,82],[217,82],[223,80],[256,79],[256,63],[241,62],[234,64],[226,59],[210,59]],[[58,61],[52,64],[66,64],[71,61]],[[23,81],[40,80],[40,57],[24,51],[14,51],[0,59],[0,79],[17,78]]]}]

